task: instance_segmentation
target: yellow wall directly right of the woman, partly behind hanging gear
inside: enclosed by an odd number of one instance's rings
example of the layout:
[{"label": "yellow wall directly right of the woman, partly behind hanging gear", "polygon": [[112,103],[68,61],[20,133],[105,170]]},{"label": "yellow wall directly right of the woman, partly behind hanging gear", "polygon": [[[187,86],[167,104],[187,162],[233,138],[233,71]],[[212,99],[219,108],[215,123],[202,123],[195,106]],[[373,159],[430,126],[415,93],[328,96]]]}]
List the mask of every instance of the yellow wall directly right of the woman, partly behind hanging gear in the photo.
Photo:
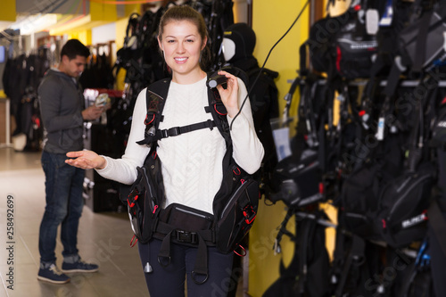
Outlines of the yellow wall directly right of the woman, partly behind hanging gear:
[{"label": "yellow wall directly right of the woman, partly behind hanging gear", "polygon": [[[260,66],[265,61],[270,48],[276,44],[293,21],[301,12],[306,1],[281,0],[271,2],[256,0],[252,4],[252,29],[256,32],[257,43],[254,55]],[[302,13],[301,19],[296,22],[293,29],[274,48],[265,65],[270,70],[279,72],[276,81],[279,90],[280,111],[285,107],[285,94],[288,92],[290,82],[296,78],[299,69],[299,46],[307,39],[309,32],[309,7]],[[297,106],[299,98],[294,95],[293,106]],[[292,108],[296,111],[296,108]],[[293,113],[295,115],[295,112]],[[292,114],[292,115],[293,115]],[[284,256],[285,265],[293,255],[293,243],[286,236],[282,240],[283,255],[275,255],[273,244],[277,235],[277,227],[285,218],[285,204],[277,202],[274,206],[266,206],[260,201],[259,214],[250,233],[250,259],[249,259],[249,293],[261,296],[265,290],[279,276],[279,261]],[[289,224],[293,231],[293,219]]]}]

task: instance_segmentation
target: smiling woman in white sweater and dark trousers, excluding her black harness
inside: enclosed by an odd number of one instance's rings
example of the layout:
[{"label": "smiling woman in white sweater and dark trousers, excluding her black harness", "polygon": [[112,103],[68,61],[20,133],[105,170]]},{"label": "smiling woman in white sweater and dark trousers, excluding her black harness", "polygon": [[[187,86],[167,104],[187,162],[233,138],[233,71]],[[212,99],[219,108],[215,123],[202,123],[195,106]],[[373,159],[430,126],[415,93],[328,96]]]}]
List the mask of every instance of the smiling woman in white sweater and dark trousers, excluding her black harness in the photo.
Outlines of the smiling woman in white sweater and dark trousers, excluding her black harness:
[{"label": "smiling woman in white sweater and dark trousers, excluding her black harness", "polygon": [[[203,70],[210,57],[207,40],[202,15],[190,6],[172,6],[162,16],[158,43],[172,79],[160,129],[211,120],[211,114],[203,108],[209,104],[207,74]],[[227,120],[231,123],[240,111],[246,87],[242,80],[225,71],[219,74],[227,78],[227,88],[219,86],[218,90],[227,109]],[[143,165],[150,150],[146,145],[136,144],[144,137],[146,111],[143,90],[136,99],[128,146],[122,159],[115,160],[91,151],[82,151],[67,153],[68,157],[75,158],[67,163],[83,169],[96,169],[103,177],[132,184],[136,179],[136,167]],[[230,133],[234,147],[233,158],[246,172],[254,173],[260,168],[264,151],[253,127],[249,101],[237,116]],[[222,158],[226,152],[226,144],[219,130],[206,128],[163,138],[158,145],[166,194],[163,207],[175,202],[212,213],[213,197],[223,178]],[[172,243],[171,262],[167,267],[158,263],[160,249],[161,241],[158,239],[138,243],[143,266],[150,262],[153,267],[152,273],[145,274],[151,296],[184,296],[186,274],[189,296],[227,293],[231,281],[232,253],[223,254],[215,247],[208,247],[209,278],[204,284],[197,285],[190,277],[196,248]]]}]

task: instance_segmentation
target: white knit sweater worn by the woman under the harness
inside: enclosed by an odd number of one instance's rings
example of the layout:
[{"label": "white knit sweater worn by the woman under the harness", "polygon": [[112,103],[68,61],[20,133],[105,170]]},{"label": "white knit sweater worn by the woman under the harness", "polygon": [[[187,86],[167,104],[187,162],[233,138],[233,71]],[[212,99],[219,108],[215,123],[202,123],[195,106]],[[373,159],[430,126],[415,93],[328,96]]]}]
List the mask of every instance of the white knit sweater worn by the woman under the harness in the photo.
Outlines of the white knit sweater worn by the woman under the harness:
[{"label": "white knit sweater worn by the woman under the harness", "polygon": [[[246,96],[246,87],[240,79],[238,84],[239,106],[241,106]],[[204,107],[209,104],[207,94],[206,78],[191,85],[171,82],[160,128],[181,127],[203,120],[212,120],[211,113],[204,111]],[[149,147],[136,144],[136,141],[144,138],[146,111],[144,89],[136,99],[125,154],[121,159],[104,156],[107,166],[97,170],[100,175],[128,185],[135,181],[136,166],[142,166],[149,153]],[[232,121],[229,117],[227,120],[229,123]],[[255,133],[249,100],[235,119],[231,138],[235,161],[249,173],[259,169],[264,151]],[[166,190],[164,207],[177,202],[213,213],[212,201],[221,185],[222,159],[226,152],[225,141],[218,128],[212,130],[205,128],[180,136],[163,138],[158,144],[157,153],[162,164],[162,177]]]}]

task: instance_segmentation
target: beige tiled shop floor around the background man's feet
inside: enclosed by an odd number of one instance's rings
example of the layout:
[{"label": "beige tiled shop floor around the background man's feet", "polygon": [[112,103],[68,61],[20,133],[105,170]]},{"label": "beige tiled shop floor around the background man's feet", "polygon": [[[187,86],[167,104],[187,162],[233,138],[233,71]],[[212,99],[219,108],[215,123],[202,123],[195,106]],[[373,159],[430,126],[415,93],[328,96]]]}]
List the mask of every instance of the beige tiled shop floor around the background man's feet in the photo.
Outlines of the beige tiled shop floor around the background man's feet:
[{"label": "beige tiled shop floor around the background man's feet", "polygon": [[[84,260],[99,264],[99,271],[73,274],[70,284],[66,285],[37,281],[38,228],[45,208],[44,181],[40,153],[0,148],[0,296],[149,296],[137,249],[129,246],[132,231],[127,213],[97,213],[87,206],[80,219],[78,248]],[[11,214],[8,218],[11,210],[13,218]],[[13,230],[13,234],[8,233],[7,227],[12,227],[9,231]],[[62,243],[58,239],[59,267],[62,266],[61,252]]]}]

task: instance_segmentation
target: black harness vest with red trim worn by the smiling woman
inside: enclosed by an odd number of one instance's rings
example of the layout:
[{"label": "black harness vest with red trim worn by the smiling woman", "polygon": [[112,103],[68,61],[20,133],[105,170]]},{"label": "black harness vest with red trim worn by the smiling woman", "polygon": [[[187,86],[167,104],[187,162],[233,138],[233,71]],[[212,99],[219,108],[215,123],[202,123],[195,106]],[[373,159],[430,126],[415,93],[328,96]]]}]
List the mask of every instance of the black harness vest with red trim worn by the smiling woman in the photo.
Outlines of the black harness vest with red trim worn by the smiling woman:
[{"label": "black harness vest with red trim worn by the smiling woman", "polygon": [[[235,252],[238,243],[252,227],[259,203],[259,185],[232,158],[227,111],[217,89],[208,88],[209,106],[205,107],[205,111],[211,112],[212,120],[184,127],[158,128],[169,84],[170,78],[165,78],[147,87],[145,139],[137,144],[150,145],[151,150],[144,166],[137,168],[138,175],[130,186],[129,194],[121,193],[121,200],[128,204],[129,218],[138,241],[147,243],[152,238],[162,240],[158,255],[161,266],[169,265],[171,242],[198,248],[192,278],[195,283],[201,284],[208,277],[207,246],[215,246],[223,253]],[[161,209],[165,191],[161,161],[156,153],[158,140],[202,128],[218,128],[227,146],[223,157],[222,184],[213,199],[213,214],[178,203]],[[196,275],[202,275],[200,281]]]}]

